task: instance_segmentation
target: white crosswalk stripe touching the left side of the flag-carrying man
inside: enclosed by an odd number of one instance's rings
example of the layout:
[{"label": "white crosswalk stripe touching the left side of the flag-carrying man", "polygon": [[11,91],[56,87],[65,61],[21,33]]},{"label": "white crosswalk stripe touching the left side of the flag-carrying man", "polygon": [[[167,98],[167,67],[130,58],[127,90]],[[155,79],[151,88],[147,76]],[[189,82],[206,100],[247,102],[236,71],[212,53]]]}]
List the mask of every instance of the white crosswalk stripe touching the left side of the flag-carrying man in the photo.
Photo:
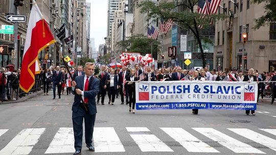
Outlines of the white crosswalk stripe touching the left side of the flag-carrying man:
[{"label": "white crosswalk stripe touching the left side of the flag-carrying man", "polygon": [[60,127],[45,153],[71,152],[75,152],[73,127]]}]

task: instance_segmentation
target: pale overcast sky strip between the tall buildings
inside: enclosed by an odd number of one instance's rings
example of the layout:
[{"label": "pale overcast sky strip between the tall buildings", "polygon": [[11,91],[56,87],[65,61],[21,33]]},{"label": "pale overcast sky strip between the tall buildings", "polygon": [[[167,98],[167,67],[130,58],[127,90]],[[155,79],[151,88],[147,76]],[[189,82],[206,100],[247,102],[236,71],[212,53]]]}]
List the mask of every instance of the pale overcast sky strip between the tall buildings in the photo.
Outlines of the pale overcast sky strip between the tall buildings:
[{"label": "pale overcast sky strip between the tall buildings", "polygon": [[107,29],[107,0],[87,0],[91,3],[90,38],[95,38],[95,47],[105,43]]}]

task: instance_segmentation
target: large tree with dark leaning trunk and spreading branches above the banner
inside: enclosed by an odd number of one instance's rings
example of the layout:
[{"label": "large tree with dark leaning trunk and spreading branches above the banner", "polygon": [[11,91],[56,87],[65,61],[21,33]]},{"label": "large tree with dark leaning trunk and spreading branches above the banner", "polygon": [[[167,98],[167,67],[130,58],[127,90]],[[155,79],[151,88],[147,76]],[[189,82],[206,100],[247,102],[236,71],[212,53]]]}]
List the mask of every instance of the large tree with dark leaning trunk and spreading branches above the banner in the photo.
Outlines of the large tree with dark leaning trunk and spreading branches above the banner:
[{"label": "large tree with dark leaning trunk and spreading branches above the banner", "polygon": [[[163,18],[167,20],[171,18],[174,22],[178,22],[181,27],[189,30],[194,34],[202,58],[202,65],[205,67],[205,58],[202,48],[201,40],[208,40],[203,38],[201,34],[201,30],[198,28],[199,25],[202,25],[204,29],[210,28],[210,22],[213,20],[226,18],[224,14],[212,14],[212,15],[204,15],[202,18],[202,14],[195,12],[194,8],[197,8],[198,0],[182,0],[180,2],[165,2],[155,4],[154,2],[142,2],[138,5],[141,8],[141,13],[147,13],[148,20],[150,18]],[[174,10],[183,10],[183,11],[174,11]],[[208,41],[210,42],[210,40]]]}]

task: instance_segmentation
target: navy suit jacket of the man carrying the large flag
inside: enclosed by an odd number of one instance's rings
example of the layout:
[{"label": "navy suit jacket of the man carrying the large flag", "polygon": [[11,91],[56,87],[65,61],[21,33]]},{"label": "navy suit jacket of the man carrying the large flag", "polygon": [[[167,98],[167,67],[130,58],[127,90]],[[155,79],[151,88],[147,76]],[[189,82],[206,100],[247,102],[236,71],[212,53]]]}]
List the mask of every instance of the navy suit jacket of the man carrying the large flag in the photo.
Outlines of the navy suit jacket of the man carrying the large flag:
[{"label": "navy suit jacket of the man carrying the large flag", "polygon": [[[77,87],[80,90],[83,90],[84,88],[84,76],[77,76],[75,79],[75,82],[77,83]],[[96,100],[95,97],[97,96],[99,92],[99,84],[100,80],[91,76],[88,84],[88,91],[84,91],[84,97],[88,98],[88,110],[90,115],[94,115],[97,113],[97,108],[96,108]],[[77,112],[80,108],[80,98],[77,96],[76,93],[76,88],[73,90],[72,89],[72,94],[75,95],[74,97],[74,103],[72,106],[72,111]]]}]

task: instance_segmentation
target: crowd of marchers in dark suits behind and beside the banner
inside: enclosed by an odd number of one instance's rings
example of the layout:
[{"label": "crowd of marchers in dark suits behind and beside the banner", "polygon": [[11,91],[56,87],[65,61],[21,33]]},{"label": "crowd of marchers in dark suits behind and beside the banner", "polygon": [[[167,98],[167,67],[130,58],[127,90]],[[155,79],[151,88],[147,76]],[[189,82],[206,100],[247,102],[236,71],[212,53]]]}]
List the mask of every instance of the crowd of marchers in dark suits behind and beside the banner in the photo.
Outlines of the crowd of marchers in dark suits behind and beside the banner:
[{"label": "crowd of marchers in dark suits behind and beside the banner", "polygon": [[[73,80],[76,76],[83,75],[84,71],[82,66],[78,66],[76,69],[71,68],[70,72],[73,75]],[[245,70],[244,73],[238,71],[236,68],[232,68],[231,71],[216,71],[215,69],[209,70],[208,67],[202,69],[186,70],[181,67],[174,68],[159,68],[154,69],[151,67],[142,67],[136,64],[133,68],[123,66],[122,68],[108,68],[105,65],[100,66],[100,71],[95,75],[100,80],[99,93],[97,95],[97,104],[105,105],[105,96],[108,96],[108,104],[114,105],[115,97],[118,98],[121,95],[121,105],[129,105],[129,112],[134,112],[135,107],[135,81],[233,81],[233,82],[258,82],[258,101],[259,96],[263,101],[264,90],[273,90],[271,92],[273,104],[274,97],[276,96],[276,87],[273,87],[275,83],[269,81],[276,81],[276,75],[274,71],[259,73],[258,70],[253,68]],[[262,82],[265,81],[265,82]],[[58,96],[60,98],[61,93],[64,94],[64,88],[66,93],[71,94],[71,79],[65,68],[59,66],[50,69],[44,69],[43,71],[43,85],[44,95],[48,94],[49,84],[53,82],[54,97],[56,98],[56,86],[58,88]],[[266,84],[269,84],[266,86]],[[271,88],[269,88],[271,87]],[[193,114],[198,114],[198,109],[192,110]],[[249,115],[250,111],[246,111]],[[255,115],[255,111],[251,111],[252,115]]]}]

